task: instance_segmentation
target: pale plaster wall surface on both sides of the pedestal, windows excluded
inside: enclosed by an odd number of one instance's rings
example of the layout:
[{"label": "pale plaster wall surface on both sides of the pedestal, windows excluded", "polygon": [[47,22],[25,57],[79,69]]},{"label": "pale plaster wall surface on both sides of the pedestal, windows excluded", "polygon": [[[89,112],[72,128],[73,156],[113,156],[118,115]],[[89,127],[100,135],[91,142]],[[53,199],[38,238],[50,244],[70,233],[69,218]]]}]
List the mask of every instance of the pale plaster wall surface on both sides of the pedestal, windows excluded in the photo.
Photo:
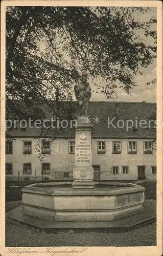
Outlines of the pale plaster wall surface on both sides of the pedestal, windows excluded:
[{"label": "pale plaster wall surface on both sides of the pedestal, windows excluded", "polygon": [[[24,141],[32,141],[32,154],[23,154]],[[106,153],[97,153],[97,141],[106,141]],[[122,142],[122,153],[112,154],[112,141]],[[137,141],[137,154],[128,154],[128,141]],[[151,166],[156,165],[156,151],[153,154],[144,154],[145,139],[92,139],[92,165],[100,165],[100,180],[137,180],[137,166],[146,166],[146,175],[148,179],[156,179],[156,175],[152,174]],[[152,141],[152,140],[151,140]],[[36,180],[40,180],[41,161],[38,152],[34,148],[37,140],[32,138],[15,138],[13,141],[13,154],[6,155],[6,162],[13,164],[13,174],[6,175],[7,180],[17,180],[18,171],[20,180],[30,177],[34,180],[34,170],[36,169]],[[75,162],[75,154],[68,153],[68,140],[57,139],[51,145],[52,156],[47,155],[44,162],[51,163],[51,174],[43,175],[49,179],[63,179],[64,172],[71,172],[70,178],[73,176],[73,167]],[[32,163],[32,174],[22,174],[23,163]],[[121,166],[129,166],[129,174],[122,174]],[[120,166],[120,174],[112,175],[112,166]]]}]

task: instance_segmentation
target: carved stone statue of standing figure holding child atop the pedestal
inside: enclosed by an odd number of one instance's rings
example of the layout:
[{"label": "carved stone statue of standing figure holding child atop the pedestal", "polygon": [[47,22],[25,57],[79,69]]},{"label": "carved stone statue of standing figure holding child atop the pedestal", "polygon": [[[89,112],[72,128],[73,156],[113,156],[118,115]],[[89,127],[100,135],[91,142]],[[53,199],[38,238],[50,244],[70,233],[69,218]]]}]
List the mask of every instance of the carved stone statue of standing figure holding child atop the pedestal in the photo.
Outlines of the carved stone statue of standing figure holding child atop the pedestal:
[{"label": "carved stone statue of standing figure holding child atop the pedestal", "polygon": [[84,71],[81,76],[81,82],[75,85],[75,97],[78,101],[77,117],[88,115],[89,99],[91,97],[91,88],[87,82],[88,74]]}]

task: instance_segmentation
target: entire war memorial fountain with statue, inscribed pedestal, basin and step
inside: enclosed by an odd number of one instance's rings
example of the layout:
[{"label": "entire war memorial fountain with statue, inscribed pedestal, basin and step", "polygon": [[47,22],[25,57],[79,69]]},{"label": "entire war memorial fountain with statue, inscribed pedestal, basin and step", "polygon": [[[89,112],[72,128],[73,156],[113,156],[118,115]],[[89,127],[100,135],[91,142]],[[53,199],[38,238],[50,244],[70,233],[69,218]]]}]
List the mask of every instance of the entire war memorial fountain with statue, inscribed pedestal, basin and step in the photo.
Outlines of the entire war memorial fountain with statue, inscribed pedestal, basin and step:
[{"label": "entire war memorial fountain with statue, inscribed pedestal, basin and step", "polygon": [[[23,187],[22,206],[8,212],[8,219],[40,229],[119,228],[128,223],[134,226],[137,223],[134,215],[137,214],[140,214],[140,222],[147,219],[143,215],[144,187],[131,183],[94,182],[91,150],[93,125],[87,121],[91,88],[87,76],[83,72],[81,82],[74,87],[78,102],[74,181],[36,183]],[[155,214],[152,213],[151,218],[153,216]],[[121,219],[124,220],[120,224],[118,221]]]}]

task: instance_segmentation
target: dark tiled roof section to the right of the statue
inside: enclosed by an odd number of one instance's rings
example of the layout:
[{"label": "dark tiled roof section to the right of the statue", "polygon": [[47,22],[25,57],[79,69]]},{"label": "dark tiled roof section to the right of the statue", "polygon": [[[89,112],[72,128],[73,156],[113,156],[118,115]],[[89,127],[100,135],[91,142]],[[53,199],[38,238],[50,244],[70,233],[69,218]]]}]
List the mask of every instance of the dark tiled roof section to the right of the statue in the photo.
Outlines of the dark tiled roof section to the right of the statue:
[{"label": "dark tiled roof section to the right of the statue", "polygon": [[[115,111],[117,105],[117,111]],[[119,113],[118,114],[116,114]],[[149,123],[149,119],[152,116],[156,116],[156,103],[142,103],[142,102],[91,102],[90,115],[92,117],[100,117],[100,123],[94,122],[95,137],[101,138],[153,138],[154,129],[147,130],[139,126],[140,120],[146,120]],[[112,121],[115,127],[108,122]],[[133,127],[127,129],[133,121]],[[133,130],[136,127],[137,132]],[[119,125],[119,127],[118,127]],[[121,126],[123,126],[121,128]],[[143,125],[142,125],[143,126]],[[151,124],[152,126],[152,124]],[[127,131],[128,130],[128,131]]]}]

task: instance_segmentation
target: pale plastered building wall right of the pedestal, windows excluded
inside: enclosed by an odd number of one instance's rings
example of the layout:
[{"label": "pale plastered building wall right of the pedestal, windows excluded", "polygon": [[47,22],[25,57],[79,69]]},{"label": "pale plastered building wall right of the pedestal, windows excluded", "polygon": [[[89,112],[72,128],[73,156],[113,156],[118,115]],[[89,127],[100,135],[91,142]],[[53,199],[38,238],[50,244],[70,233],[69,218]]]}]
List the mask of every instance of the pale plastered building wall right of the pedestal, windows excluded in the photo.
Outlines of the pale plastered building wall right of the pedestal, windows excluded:
[{"label": "pale plastered building wall right of the pedestal, windows excluded", "polygon": [[[106,153],[97,153],[97,141],[106,141]],[[121,141],[121,154],[112,154],[112,142]],[[128,141],[137,141],[137,154],[128,154]],[[148,179],[156,179],[152,174],[151,166],[156,165],[156,151],[153,154],[144,154],[143,139],[94,139],[92,140],[92,164],[100,165],[101,180],[137,180],[137,166],[146,166],[146,175]],[[151,140],[152,141],[152,140]],[[112,166],[119,166],[120,174],[111,174]],[[122,166],[129,166],[129,174],[122,173]]]}]

